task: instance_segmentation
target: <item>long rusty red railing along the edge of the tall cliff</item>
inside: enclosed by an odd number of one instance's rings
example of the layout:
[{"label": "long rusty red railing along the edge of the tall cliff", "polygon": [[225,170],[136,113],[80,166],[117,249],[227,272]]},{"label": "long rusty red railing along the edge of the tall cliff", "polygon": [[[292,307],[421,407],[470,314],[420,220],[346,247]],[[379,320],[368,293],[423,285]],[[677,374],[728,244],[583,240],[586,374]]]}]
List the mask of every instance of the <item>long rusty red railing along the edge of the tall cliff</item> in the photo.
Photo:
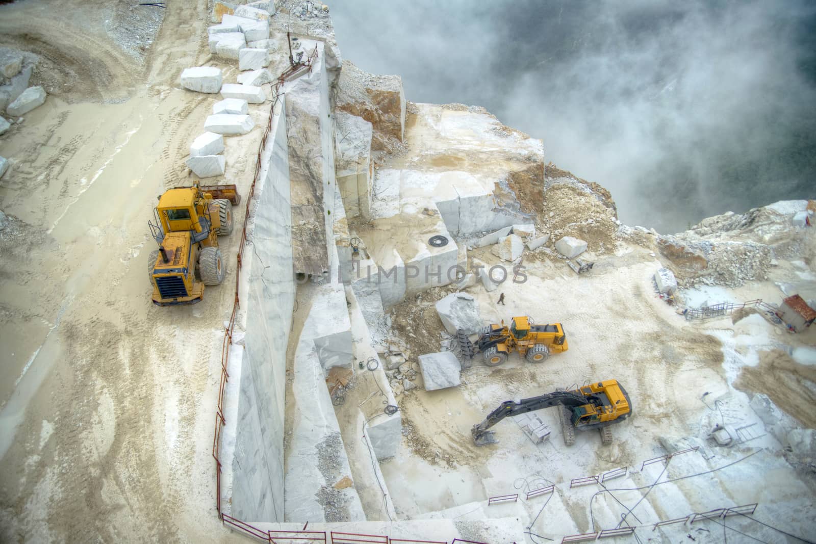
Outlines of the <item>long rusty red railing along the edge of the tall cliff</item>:
[{"label": "long rusty red railing along the edge of the tall cliff", "polygon": [[[235,318],[237,316],[238,309],[241,307],[241,301],[238,293],[240,287],[239,278],[241,276],[244,248],[246,247],[247,241],[246,225],[249,222],[250,218],[252,197],[255,196],[255,184],[258,182],[258,178],[260,175],[261,156],[264,154],[264,151],[266,150],[266,143],[269,131],[272,130],[272,122],[273,119],[275,118],[275,107],[277,106],[277,103],[281,97],[280,92],[281,86],[283,85],[284,82],[286,82],[287,77],[291,77],[292,74],[299,72],[300,69],[308,69],[308,71],[311,72],[314,60],[316,59],[317,59],[317,46],[315,46],[314,50],[308,56],[308,60],[306,60],[305,63],[293,65],[292,67],[290,67],[290,69],[287,69],[286,72],[282,73],[281,76],[279,76],[277,80],[273,83],[272,107],[269,108],[269,117],[266,124],[266,128],[264,129],[264,135],[261,137],[260,145],[258,146],[258,156],[255,161],[255,173],[252,176],[252,184],[250,185],[249,193],[246,195],[246,213],[244,214],[244,223],[241,229],[241,241],[238,243],[238,254],[236,258],[237,268],[235,270],[235,298],[233,299],[233,312],[229,316],[228,325],[224,329],[224,340],[221,343],[221,377],[218,387],[218,405],[216,405],[215,407],[215,432],[213,433],[212,439],[212,457],[215,459],[215,508],[218,511],[218,515],[222,521],[224,520],[224,514],[221,511],[220,445],[221,445],[221,428],[224,427],[224,423],[226,423],[226,419],[224,418],[224,388],[226,387],[227,382],[229,380],[229,373],[227,372],[227,367],[229,364],[229,348],[233,344],[233,330],[235,329]],[[292,70],[294,68],[296,69]],[[246,524],[241,520],[229,517],[229,520],[224,521],[224,523],[228,523],[235,528],[242,529],[245,533],[251,534],[251,536],[258,537],[258,535],[256,535],[255,533],[251,533],[250,530],[243,529],[243,526],[251,527],[251,525]],[[271,540],[269,542],[271,542]]]}]

